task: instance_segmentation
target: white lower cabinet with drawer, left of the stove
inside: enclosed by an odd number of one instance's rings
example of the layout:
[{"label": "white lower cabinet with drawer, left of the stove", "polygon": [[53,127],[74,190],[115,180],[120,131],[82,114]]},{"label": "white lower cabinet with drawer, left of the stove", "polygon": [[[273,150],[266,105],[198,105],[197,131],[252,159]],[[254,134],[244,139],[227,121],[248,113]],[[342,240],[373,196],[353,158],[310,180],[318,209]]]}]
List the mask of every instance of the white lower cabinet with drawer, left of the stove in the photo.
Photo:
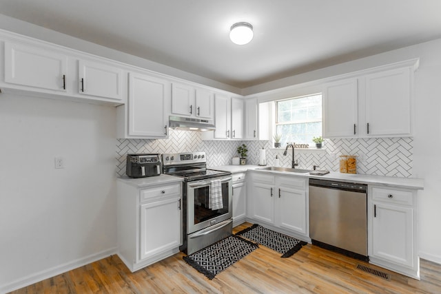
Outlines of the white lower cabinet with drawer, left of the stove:
[{"label": "white lower cabinet with drawer, left of the stove", "polygon": [[117,182],[118,255],[130,271],[179,252],[181,191],[181,182],[147,188]]}]

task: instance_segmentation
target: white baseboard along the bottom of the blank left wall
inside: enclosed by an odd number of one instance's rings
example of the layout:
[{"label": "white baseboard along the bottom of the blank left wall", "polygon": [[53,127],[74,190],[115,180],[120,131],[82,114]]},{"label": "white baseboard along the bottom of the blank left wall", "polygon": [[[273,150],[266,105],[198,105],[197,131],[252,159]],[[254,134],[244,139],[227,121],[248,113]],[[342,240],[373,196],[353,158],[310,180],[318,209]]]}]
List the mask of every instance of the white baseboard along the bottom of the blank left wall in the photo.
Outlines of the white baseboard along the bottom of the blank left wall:
[{"label": "white baseboard along the bottom of the blank left wall", "polygon": [[78,260],[72,260],[72,262],[61,264],[59,266],[54,266],[50,269],[45,269],[44,271],[40,271],[39,273],[33,273],[32,275],[22,277],[8,284],[0,285],[0,293],[8,293],[10,291],[32,285],[50,277],[54,277],[61,273],[65,273],[66,271],[71,271],[72,269],[79,268],[80,266],[84,266],[85,264],[96,262],[96,260],[101,260],[103,258],[107,258],[112,254],[116,254],[116,251],[116,247],[110,248],[105,251],[86,256],[85,258],[79,258]]}]

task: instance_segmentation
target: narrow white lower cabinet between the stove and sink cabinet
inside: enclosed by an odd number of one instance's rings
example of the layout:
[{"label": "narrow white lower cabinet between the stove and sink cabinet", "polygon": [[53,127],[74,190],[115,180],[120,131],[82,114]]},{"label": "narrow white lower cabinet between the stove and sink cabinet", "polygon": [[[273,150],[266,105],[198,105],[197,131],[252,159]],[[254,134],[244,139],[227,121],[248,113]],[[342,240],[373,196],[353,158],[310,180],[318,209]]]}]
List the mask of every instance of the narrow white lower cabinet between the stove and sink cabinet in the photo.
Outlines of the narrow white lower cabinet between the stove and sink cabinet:
[{"label": "narrow white lower cabinet between the stove and sink cabinet", "polygon": [[247,185],[245,173],[236,173],[233,177],[233,227],[245,222],[247,218]]}]

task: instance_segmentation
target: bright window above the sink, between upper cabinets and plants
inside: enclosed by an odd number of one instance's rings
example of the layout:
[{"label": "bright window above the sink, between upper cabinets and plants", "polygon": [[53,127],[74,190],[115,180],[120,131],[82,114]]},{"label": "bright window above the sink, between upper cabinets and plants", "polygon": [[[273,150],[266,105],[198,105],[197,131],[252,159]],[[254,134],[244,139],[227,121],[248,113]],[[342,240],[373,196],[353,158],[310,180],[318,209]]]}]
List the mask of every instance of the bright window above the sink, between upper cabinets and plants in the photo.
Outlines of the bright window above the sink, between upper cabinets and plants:
[{"label": "bright window above the sink, between upper cabinets and plants", "polygon": [[322,94],[276,101],[276,134],[287,143],[313,145],[322,136]]}]

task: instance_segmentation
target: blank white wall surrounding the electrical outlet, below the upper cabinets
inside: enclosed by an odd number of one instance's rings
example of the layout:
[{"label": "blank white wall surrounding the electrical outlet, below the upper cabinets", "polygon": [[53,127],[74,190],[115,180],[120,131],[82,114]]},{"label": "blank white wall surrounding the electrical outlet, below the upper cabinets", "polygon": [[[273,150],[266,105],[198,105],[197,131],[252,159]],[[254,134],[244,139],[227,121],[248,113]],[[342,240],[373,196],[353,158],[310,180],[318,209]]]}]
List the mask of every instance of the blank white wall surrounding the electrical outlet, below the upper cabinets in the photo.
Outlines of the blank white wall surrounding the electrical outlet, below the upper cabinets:
[{"label": "blank white wall surrounding the electrical outlet, below the upper cabinets", "polygon": [[115,125],[114,107],[0,94],[0,293],[114,253]]}]

